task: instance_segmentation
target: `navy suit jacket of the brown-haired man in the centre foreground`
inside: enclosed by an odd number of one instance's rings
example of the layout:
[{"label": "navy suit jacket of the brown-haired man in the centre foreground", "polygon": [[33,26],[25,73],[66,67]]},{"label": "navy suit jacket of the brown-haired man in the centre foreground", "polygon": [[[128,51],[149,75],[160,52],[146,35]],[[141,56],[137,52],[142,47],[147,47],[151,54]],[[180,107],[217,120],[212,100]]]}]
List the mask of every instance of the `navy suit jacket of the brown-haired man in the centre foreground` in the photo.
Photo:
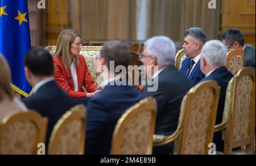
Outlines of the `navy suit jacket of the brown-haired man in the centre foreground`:
[{"label": "navy suit jacket of the brown-haired man in the centre foreground", "polygon": [[87,104],[85,154],[108,155],[115,124],[121,115],[141,99],[128,85],[107,85]]}]

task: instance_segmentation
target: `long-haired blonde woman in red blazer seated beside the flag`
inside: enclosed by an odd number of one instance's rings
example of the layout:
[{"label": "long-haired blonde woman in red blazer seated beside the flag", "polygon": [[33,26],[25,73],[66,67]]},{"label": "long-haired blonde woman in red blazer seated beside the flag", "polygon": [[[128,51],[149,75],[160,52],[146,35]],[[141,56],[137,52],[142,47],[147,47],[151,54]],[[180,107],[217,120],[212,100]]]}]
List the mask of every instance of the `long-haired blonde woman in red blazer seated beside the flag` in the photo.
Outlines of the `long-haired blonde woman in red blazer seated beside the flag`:
[{"label": "long-haired blonde woman in red blazer seated beside the flag", "polygon": [[[55,81],[72,98],[93,97],[99,92],[90,76],[86,61],[80,55],[81,35],[73,30],[63,30],[57,40],[53,56]],[[82,86],[87,93],[82,90]],[[96,91],[97,90],[97,91]]]}]

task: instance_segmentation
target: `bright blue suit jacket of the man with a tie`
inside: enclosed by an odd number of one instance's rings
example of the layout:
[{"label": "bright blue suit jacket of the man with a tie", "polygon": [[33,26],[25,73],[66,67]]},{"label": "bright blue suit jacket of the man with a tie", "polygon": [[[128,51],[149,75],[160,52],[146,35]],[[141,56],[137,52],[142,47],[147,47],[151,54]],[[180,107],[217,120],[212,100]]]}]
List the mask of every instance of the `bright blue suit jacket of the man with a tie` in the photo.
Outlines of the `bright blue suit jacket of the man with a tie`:
[{"label": "bright blue suit jacket of the man with a tie", "polygon": [[[183,73],[185,76],[188,72],[188,68],[191,62],[191,57],[185,59],[182,63],[180,72]],[[199,62],[195,65],[195,67],[193,68],[193,70],[190,72],[188,78],[191,79],[195,84],[197,84],[200,80],[202,80],[204,78],[204,74],[201,72],[200,69],[200,60]]]}]

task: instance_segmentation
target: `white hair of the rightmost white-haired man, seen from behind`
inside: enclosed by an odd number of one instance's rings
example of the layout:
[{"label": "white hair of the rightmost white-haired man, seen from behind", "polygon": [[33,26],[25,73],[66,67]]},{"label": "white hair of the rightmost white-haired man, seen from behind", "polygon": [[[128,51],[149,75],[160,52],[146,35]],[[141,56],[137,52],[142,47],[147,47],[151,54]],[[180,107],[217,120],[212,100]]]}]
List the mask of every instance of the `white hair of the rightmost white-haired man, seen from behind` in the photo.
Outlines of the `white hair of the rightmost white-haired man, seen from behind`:
[{"label": "white hair of the rightmost white-haired man, seen from behind", "polygon": [[205,43],[201,53],[210,67],[225,67],[228,49],[220,40]]}]

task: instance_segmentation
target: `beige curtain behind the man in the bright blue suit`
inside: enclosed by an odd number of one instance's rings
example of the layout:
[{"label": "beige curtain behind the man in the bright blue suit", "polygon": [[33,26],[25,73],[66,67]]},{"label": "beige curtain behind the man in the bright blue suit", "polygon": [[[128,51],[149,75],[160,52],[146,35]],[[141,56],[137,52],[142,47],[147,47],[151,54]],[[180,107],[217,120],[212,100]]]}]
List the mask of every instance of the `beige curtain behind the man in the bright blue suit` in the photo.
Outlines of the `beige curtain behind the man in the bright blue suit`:
[{"label": "beige curtain behind the man in the bright blue suit", "polygon": [[201,27],[207,39],[217,39],[220,30],[221,2],[217,9],[208,9],[208,0],[149,0],[150,16],[147,21],[147,37],[166,35],[173,40],[183,40],[184,31]]}]

